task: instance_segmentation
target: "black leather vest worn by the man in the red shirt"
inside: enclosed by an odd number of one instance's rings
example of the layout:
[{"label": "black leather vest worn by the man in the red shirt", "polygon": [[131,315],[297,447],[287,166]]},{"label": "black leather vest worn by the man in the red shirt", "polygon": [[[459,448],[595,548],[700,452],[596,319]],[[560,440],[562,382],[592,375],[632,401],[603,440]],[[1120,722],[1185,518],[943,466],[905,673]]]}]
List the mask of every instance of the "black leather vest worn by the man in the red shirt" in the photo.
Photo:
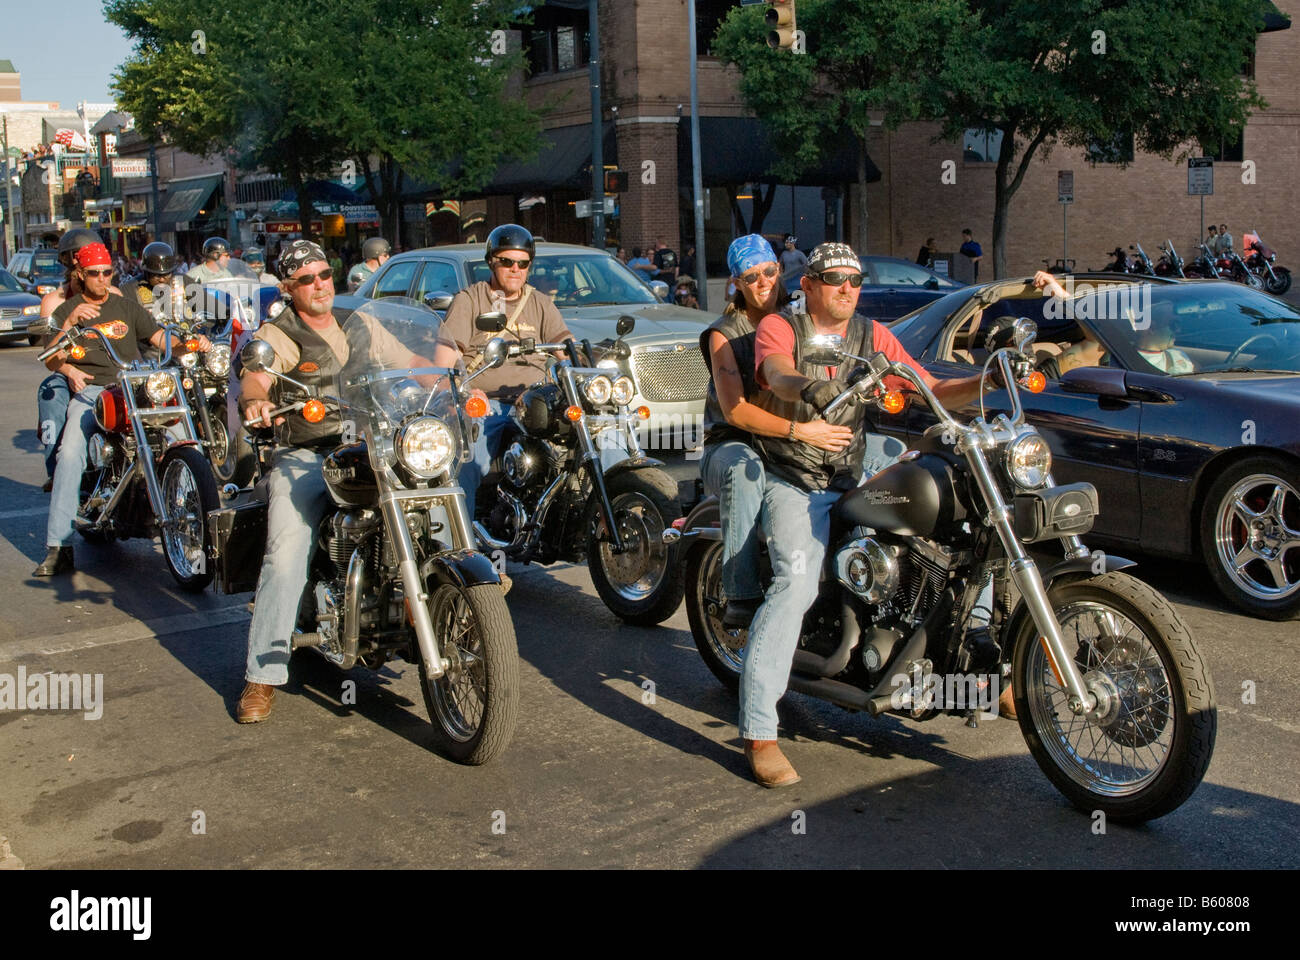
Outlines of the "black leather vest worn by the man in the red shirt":
[{"label": "black leather vest worn by the man in the red shirt", "polygon": [[[810,380],[832,380],[849,385],[849,373],[857,367],[855,360],[845,360],[835,377],[827,377],[826,367],[803,359],[803,341],[816,333],[812,317],[807,313],[793,313],[786,307],[779,315],[794,329],[794,368]],[[861,313],[849,320],[844,337],[844,351],[858,356],[871,356],[874,343],[872,321]],[[805,401],[784,401],[775,393],[764,393],[763,407],[776,416],[807,423],[819,416],[816,407]],[[853,428],[853,442],[846,450],[831,453],[811,444],[786,437],[754,437],[754,446],[763,457],[768,471],[803,490],[848,490],[857,485],[862,476],[863,432],[870,429],[862,415],[862,407],[846,403],[828,418],[829,423]]]}]

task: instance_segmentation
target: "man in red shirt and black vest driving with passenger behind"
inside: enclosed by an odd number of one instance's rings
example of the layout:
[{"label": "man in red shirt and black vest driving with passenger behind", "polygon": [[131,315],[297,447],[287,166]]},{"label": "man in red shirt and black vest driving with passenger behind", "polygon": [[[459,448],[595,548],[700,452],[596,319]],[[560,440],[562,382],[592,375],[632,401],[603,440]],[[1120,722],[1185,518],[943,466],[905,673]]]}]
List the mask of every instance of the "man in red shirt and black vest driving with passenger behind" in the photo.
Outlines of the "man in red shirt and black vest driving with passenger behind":
[{"label": "man in red shirt and black vest driving with passenger behind", "polygon": [[[823,367],[803,358],[803,341],[818,333],[844,337],[844,350],[870,356],[880,350],[915,369],[950,410],[979,395],[979,377],[936,380],[907,355],[880,324],[855,312],[862,261],[846,243],[822,243],[809,258],[801,281],[806,313],[786,307],[758,324],[755,368],[760,386],[771,390],[770,412],[792,424],[822,415],[849,386],[849,366]],[[892,380],[892,382],[890,382]],[[887,379],[887,386],[906,381]],[[789,437],[755,437],[767,471],[763,528],[772,562],[772,585],[754,615],[740,682],[740,732],[755,779],[764,787],[800,780],[776,745],[776,701],[785,693],[803,614],[816,600],[831,533],[831,507],[858,483],[863,434],[870,429],[863,407],[845,405],[832,424],[854,428],[842,450],[822,450]]]}]

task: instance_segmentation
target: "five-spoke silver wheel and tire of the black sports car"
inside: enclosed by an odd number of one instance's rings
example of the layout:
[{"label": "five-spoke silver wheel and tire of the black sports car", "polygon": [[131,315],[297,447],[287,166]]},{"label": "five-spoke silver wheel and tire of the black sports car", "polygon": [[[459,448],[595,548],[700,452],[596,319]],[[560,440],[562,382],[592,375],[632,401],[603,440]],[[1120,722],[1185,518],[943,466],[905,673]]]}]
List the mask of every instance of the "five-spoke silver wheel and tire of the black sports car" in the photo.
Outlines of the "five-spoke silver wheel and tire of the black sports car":
[{"label": "five-spoke silver wheel and tire of the black sports car", "polygon": [[1201,553],[1214,585],[1253,617],[1300,614],[1300,481],[1295,464],[1248,457],[1210,484]]}]

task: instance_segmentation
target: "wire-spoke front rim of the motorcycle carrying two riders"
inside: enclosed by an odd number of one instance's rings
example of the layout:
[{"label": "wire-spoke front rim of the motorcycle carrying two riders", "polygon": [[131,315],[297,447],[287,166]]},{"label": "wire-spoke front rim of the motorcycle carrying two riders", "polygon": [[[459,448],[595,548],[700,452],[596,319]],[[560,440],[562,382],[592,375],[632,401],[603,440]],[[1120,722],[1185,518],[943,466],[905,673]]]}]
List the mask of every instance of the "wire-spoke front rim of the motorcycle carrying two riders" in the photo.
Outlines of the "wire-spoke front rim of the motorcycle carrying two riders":
[{"label": "wire-spoke front rim of the motorcycle carrying two riders", "polygon": [[1030,719],[1052,760],[1091,793],[1128,796],[1169,761],[1176,714],[1171,670],[1143,630],[1119,610],[1083,601],[1056,611],[1066,649],[1104,709],[1100,722],[1075,715],[1043,640],[1026,665]]}]

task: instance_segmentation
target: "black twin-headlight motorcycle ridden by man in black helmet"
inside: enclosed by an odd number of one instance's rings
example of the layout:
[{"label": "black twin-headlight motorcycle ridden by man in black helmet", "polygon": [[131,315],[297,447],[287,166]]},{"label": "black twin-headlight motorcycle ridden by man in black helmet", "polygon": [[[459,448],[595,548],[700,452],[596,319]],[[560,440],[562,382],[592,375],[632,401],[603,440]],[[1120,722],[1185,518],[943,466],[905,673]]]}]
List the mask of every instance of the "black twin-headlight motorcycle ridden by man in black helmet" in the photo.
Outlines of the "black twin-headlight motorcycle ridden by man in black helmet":
[{"label": "black twin-headlight motorcycle ridden by man in black helmet", "polygon": [[[503,313],[485,313],[478,329],[497,333]],[[642,454],[625,375],[623,341],[634,317],[618,320],[599,360],[592,345],[508,345],[517,362],[547,358],[546,377],[520,394],[502,437],[495,497],[485,477],[474,532],[484,550],[520,563],[586,561],[595,592],[627,623],[654,626],[681,604],[685,584],[663,531],[681,516],[676,481],[662,460]]]}]

